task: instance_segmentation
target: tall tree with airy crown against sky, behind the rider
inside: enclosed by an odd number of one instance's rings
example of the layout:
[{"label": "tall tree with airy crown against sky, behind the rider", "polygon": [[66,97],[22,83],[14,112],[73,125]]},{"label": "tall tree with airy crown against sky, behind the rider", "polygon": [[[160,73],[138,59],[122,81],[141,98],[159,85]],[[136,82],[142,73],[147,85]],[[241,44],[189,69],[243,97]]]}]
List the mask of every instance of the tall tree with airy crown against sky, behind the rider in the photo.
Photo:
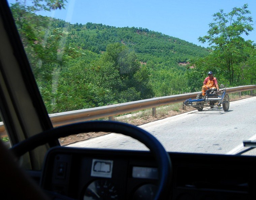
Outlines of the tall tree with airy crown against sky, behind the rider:
[{"label": "tall tree with airy crown against sky, behind the rider", "polygon": [[246,56],[244,49],[252,46],[252,41],[242,38],[243,34],[249,35],[253,30],[253,19],[248,16],[251,12],[247,8],[248,4],[241,8],[234,7],[229,13],[221,9],[213,15],[214,21],[209,24],[208,35],[198,38],[202,43],[207,41],[214,50],[213,56],[217,55],[223,61],[230,85],[237,76],[239,69],[236,67]]}]

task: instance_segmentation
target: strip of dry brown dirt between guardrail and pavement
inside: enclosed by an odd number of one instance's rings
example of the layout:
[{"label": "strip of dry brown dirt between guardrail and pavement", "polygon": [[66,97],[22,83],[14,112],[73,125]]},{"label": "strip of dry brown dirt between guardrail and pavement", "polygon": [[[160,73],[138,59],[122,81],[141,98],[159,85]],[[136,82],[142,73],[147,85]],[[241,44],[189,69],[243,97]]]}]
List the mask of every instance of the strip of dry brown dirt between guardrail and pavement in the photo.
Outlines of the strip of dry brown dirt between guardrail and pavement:
[{"label": "strip of dry brown dirt between guardrail and pavement", "polygon": [[[246,99],[252,96],[249,95],[245,95],[245,96],[231,96],[230,97],[230,101],[236,101],[236,100],[241,100],[241,99]],[[116,117],[114,118],[115,121],[121,121],[121,122],[126,122],[126,123],[130,123],[133,124],[135,126],[139,126],[145,123],[149,123],[152,121],[156,121],[159,119],[164,119],[166,117],[171,117],[174,115],[178,115],[178,114],[182,114],[184,112],[189,112],[195,110],[193,107],[186,107],[186,110],[182,109],[182,104],[180,106],[180,108],[175,109],[175,110],[167,110],[165,112],[156,112],[156,117],[152,116],[152,112],[148,111],[148,115],[147,114],[143,114],[143,112],[140,112],[139,114],[134,114],[131,115],[131,117]],[[145,111],[146,112],[146,111]],[[150,114],[151,112],[151,114]],[[102,136],[102,135],[106,135],[108,133],[106,132],[90,132],[90,133],[81,133],[81,134],[76,134],[76,135],[71,135],[65,138],[60,138],[59,142],[62,146],[68,145],[68,144],[72,144],[78,141],[84,141],[84,140],[88,140],[90,138],[95,138],[98,136]]]}]

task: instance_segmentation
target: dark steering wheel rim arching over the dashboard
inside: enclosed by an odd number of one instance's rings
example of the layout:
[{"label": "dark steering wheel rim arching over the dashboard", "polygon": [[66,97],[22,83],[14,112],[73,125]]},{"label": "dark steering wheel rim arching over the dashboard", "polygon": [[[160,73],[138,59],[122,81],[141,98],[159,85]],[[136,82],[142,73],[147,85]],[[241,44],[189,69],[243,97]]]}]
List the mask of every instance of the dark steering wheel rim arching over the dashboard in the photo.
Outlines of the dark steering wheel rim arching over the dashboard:
[{"label": "dark steering wheel rim arching over the dashboard", "polygon": [[61,137],[99,131],[114,132],[130,136],[145,144],[150,149],[156,159],[159,170],[159,180],[155,199],[164,199],[168,194],[171,178],[171,161],[169,155],[162,144],[154,136],[131,124],[116,121],[86,121],[73,123],[34,135],[27,140],[14,145],[11,150],[17,157],[20,157],[40,145],[44,145]]}]

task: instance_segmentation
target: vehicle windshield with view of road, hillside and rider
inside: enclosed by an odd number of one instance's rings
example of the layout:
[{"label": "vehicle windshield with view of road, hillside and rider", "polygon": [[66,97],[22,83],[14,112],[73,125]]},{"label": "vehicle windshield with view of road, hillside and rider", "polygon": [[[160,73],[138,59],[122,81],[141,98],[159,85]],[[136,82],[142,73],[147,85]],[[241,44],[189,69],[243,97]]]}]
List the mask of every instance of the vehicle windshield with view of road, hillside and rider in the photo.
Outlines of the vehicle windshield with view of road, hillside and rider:
[{"label": "vehicle windshield with view of road, hillside and rider", "polygon": [[[8,3],[54,127],[127,122],[172,152],[237,154],[256,140],[255,0]],[[59,142],[147,150],[105,132]]]}]

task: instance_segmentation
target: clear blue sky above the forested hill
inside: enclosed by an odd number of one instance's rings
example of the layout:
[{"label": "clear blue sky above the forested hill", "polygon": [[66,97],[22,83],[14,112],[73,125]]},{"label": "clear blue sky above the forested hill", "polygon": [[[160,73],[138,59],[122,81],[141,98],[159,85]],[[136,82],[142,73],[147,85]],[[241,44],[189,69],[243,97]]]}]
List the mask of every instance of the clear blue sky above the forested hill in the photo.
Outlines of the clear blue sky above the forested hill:
[{"label": "clear blue sky above the forested hill", "polygon": [[[65,10],[38,14],[72,24],[93,22],[115,27],[142,27],[207,47],[197,38],[207,34],[212,15],[220,9],[228,13],[245,3],[256,21],[256,0],[68,0]],[[243,37],[256,43],[256,23],[253,27],[255,30]]]}]

